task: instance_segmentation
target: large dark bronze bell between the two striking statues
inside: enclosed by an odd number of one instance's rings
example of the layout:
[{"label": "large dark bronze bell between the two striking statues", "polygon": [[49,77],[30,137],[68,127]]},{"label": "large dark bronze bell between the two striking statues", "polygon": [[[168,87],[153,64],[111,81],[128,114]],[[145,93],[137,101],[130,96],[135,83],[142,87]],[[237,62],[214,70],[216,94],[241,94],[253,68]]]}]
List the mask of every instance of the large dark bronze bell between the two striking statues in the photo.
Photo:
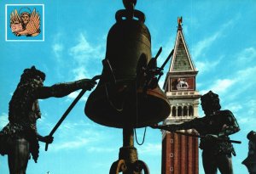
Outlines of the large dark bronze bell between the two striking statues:
[{"label": "large dark bronze bell between the two striking statues", "polygon": [[[137,18],[137,19],[134,19]],[[160,87],[143,87],[140,69],[151,57],[151,37],[144,14],[134,10],[116,13],[108,32],[102,78],[85,104],[84,113],[104,126],[143,127],[170,115],[170,104]]]}]

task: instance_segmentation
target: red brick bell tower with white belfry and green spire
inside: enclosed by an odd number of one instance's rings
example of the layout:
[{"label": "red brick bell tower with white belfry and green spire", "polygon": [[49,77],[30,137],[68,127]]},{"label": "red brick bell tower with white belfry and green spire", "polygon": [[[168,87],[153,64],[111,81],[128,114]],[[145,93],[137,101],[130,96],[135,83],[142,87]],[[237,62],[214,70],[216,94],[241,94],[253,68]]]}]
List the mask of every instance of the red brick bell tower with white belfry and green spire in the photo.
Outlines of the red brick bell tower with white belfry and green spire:
[{"label": "red brick bell tower with white belfry and green spire", "polygon": [[[201,97],[195,90],[195,76],[198,71],[195,69],[183,36],[182,17],[177,18],[177,25],[174,53],[164,84],[172,110],[164,125],[180,124],[198,117]],[[198,174],[198,138],[166,131],[162,131],[162,136],[161,173]]]}]

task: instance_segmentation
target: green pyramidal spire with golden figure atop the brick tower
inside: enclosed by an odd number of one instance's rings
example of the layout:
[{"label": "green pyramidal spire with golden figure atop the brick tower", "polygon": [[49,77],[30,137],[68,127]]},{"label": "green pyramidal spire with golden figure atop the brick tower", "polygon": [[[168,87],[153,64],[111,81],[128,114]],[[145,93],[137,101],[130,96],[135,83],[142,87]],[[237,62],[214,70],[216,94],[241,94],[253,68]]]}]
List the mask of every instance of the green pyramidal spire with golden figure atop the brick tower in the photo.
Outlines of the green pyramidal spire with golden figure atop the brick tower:
[{"label": "green pyramidal spire with golden figure atop the brick tower", "polygon": [[197,71],[183,36],[182,17],[177,18],[177,36],[169,72]]}]

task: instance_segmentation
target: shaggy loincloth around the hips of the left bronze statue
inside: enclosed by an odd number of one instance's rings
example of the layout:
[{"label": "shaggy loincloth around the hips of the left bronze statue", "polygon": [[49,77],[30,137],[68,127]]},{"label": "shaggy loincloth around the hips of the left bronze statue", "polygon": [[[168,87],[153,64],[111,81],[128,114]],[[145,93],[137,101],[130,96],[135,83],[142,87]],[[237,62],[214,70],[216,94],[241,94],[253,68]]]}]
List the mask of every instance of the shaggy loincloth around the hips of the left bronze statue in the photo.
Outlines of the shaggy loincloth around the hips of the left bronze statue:
[{"label": "shaggy loincloth around the hips of the left bronze statue", "polygon": [[3,127],[3,130],[0,132],[0,154],[9,153],[9,141],[11,139],[25,138],[29,142],[30,153],[35,162],[38,160],[39,155],[39,143],[36,129],[33,129],[32,126],[22,125],[22,124],[11,124]]}]

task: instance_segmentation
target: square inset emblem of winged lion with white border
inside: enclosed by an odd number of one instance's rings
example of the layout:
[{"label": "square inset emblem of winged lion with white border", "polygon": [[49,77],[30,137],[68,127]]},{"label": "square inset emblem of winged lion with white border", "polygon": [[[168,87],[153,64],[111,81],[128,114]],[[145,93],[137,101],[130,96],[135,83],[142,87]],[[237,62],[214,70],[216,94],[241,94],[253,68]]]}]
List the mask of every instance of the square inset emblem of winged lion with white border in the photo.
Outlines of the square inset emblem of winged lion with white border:
[{"label": "square inset emblem of winged lion with white border", "polygon": [[44,41],[44,5],[6,5],[6,41]]}]

